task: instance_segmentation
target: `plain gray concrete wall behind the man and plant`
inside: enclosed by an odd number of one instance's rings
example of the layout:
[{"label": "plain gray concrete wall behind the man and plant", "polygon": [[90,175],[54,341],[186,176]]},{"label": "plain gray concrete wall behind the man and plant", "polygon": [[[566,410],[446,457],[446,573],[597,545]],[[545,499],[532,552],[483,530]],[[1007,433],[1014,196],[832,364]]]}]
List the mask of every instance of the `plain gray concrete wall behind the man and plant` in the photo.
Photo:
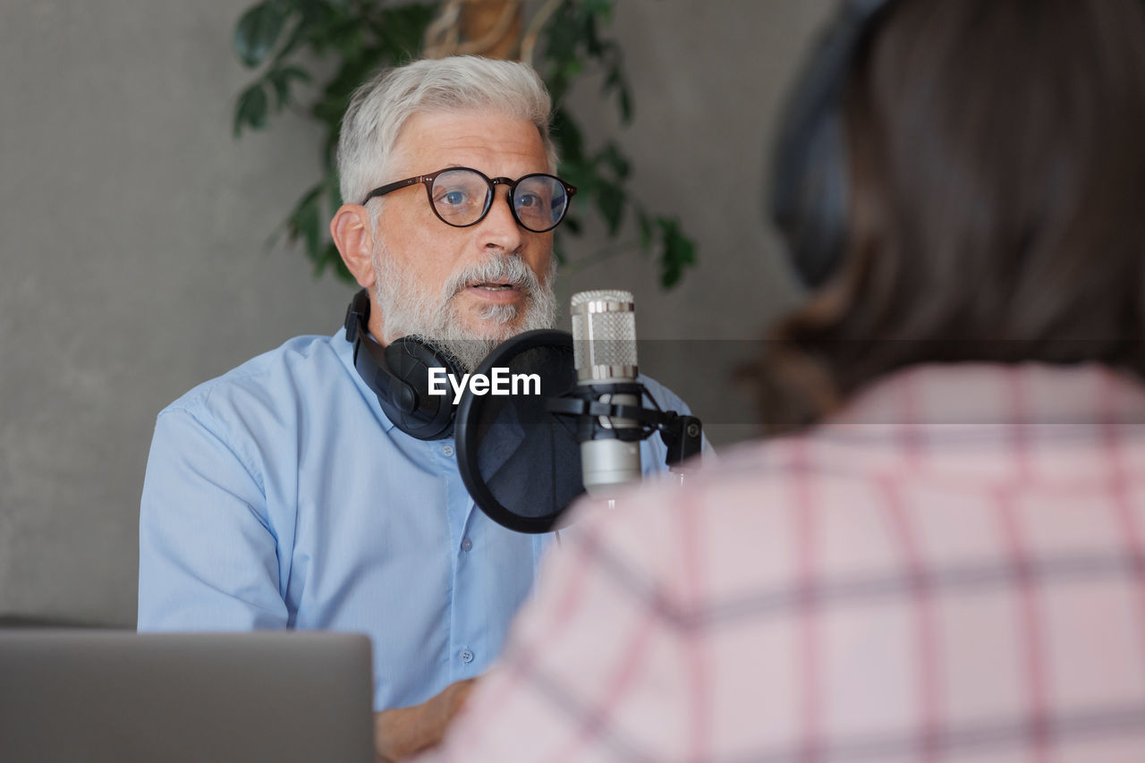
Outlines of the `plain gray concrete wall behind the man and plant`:
[{"label": "plain gray concrete wall behind the man and plant", "polygon": [[[350,289],[263,243],[317,172],[281,119],[234,141],[248,0],[7,0],[0,8],[0,619],[131,626],[155,415],[298,333],[337,329]],[[650,262],[567,246],[561,293],[637,292],[641,338],[748,338],[795,299],[760,215],[780,97],[828,0],[622,0],[633,190],[681,217],[701,265],[662,293]],[[590,134],[617,134],[595,85]],[[706,181],[702,178],[710,178]],[[744,436],[724,369],[646,370]],[[731,412],[729,412],[731,411]]]}]

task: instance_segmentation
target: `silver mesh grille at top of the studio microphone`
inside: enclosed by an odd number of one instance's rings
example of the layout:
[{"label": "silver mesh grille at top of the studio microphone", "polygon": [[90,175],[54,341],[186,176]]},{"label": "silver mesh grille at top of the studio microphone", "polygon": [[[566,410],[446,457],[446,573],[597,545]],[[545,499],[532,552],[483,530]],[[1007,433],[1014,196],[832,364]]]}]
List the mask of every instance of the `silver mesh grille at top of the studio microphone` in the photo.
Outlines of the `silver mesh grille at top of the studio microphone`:
[{"label": "silver mesh grille at top of the studio microphone", "polygon": [[572,294],[572,353],[577,379],[637,373],[637,320],[631,291],[597,289]]}]

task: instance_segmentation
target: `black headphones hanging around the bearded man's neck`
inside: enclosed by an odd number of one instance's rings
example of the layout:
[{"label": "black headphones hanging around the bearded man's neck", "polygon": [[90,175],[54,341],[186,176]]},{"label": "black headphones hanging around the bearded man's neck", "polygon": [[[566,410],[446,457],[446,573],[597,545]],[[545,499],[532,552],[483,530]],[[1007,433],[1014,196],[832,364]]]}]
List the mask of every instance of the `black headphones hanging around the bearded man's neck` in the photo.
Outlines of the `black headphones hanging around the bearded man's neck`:
[{"label": "black headphones hanging around the bearded man's neck", "polygon": [[442,440],[453,433],[457,407],[452,394],[429,394],[429,369],[443,368],[461,378],[457,363],[417,337],[382,347],[370,335],[370,293],[363,289],[346,308],[346,340],[354,345],[354,368],[394,426],[418,440]]}]

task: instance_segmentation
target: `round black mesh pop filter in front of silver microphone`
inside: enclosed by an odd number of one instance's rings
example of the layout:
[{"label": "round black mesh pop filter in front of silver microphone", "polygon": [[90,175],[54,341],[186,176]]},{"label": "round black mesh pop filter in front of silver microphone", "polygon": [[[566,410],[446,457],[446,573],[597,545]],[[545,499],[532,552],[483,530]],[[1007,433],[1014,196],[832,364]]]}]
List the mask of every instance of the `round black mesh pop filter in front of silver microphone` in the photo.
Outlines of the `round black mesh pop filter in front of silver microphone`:
[{"label": "round black mesh pop filter in front of silver microphone", "polygon": [[455,432],[461,480],[493,521],[547,533],[584,493],[576,423],[546,406],[576,387],[572,336],[521,333],[498,345],[474,371],[480,375],[499,375],[508,394],[475,394],[472,386],[461,394]]}]

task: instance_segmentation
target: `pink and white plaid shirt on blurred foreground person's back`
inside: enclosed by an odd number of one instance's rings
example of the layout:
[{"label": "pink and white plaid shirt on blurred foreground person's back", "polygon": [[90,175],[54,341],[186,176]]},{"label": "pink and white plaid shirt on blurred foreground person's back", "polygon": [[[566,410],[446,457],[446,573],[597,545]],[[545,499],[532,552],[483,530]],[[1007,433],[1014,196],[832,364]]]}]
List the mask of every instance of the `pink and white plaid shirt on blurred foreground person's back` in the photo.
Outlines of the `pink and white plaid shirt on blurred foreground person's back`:
[{"label": "pink and white plaid shirt on blurred foreground person's back", "polygon": [[1145,761],[1145,388],[921,367],[587,505],[433,760]]}]

